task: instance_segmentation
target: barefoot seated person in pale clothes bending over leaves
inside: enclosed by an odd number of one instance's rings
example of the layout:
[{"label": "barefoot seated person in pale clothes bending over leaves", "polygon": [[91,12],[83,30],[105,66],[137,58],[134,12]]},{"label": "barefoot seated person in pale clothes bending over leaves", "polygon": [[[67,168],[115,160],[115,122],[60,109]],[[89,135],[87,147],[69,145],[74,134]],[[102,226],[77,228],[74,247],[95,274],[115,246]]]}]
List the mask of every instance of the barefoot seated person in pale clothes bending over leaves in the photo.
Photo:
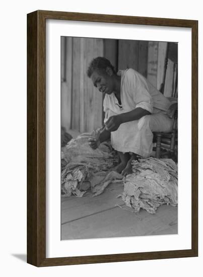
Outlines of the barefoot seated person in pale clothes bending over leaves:
[{"label": "barefoot seated person in pale clothes bending over leaves", "polygon": [[121,161],[115,170],[123,175],[129,174],[131,161],[137,155],[151,155],[152,132],[172,129],[173,120],[167,115],[170,100],[131,68],[116,74],[105,57],[94,58],[87,75],[105,95],[105,128],[98,139],[91,138],[89,144],[96,149],[101,142],[111,138],[111,145],[118,151]]}]

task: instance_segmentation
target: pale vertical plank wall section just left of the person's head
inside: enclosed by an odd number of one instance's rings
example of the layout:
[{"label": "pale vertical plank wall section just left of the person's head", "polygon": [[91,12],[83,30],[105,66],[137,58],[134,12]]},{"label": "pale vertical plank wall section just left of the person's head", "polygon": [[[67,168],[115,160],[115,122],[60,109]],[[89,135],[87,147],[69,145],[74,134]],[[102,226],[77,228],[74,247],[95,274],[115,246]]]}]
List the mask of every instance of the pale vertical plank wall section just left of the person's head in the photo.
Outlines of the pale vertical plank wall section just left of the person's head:
[{"label": "pale vertical plank wall section just left of the person's head", "polygon": [[103,55],[103,39],[73,38],[72,129],[80,132],[102,125],[102,94],[86,72],[90,61]]}]

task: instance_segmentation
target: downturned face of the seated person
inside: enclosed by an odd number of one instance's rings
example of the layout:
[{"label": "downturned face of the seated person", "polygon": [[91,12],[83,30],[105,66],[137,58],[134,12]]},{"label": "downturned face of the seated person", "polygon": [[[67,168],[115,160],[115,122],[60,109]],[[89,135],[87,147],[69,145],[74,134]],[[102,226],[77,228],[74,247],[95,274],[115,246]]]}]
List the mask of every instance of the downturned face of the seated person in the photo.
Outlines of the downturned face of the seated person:
[{"label": "downturned face of the seated person", "polygon": [[94,86],[103,94],[111,94],[113,92],[113,78],[109,72],[94,71],[91,80]]}]

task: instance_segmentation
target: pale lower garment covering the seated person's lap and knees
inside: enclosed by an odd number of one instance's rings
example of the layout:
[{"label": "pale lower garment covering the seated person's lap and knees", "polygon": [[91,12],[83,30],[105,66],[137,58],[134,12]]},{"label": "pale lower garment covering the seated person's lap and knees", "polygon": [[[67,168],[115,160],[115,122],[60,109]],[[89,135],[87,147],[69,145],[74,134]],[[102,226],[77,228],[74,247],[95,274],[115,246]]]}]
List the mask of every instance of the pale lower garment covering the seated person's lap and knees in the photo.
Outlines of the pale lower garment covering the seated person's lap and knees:
[{"label": "pale lower garment covering the seated person's lap and knees", "polygon": [[[109,116],[116,115],[110,111]],[[139,120],[120,124],[111,132],[111,145],[119,152],[132,152],[142,157],[150,157],[153,147],[153,132],[169,132],[173,128],[173,119],[167,114],[145,115]]]}]

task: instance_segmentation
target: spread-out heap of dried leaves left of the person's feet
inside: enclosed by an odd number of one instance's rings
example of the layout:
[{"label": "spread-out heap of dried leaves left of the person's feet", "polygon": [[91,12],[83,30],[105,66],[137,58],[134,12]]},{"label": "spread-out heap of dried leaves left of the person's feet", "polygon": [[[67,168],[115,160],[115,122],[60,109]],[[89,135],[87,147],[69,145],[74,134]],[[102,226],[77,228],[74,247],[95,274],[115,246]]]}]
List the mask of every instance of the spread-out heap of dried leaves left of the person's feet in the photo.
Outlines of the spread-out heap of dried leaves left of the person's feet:
[{"label": "spread-out heap of dried leaves left of the person's feet", "polygon": [[99,130],[83,133],[72,139],[61,152],[61,195],[83,196],[88,189],[97,196],[111,182],[121,182],[122,176],[110,171],[117,163],[116,152],[109,142],[93,150],[89,137],[97,137]]}]

